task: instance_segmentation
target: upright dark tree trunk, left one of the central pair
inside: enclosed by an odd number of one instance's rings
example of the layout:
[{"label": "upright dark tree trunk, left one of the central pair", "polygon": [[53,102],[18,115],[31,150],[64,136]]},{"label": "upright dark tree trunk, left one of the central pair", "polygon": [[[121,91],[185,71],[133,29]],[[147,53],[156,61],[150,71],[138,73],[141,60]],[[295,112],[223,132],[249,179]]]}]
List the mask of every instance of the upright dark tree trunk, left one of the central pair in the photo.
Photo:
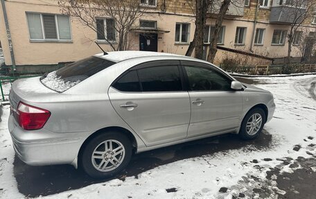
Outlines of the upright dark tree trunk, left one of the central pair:
[{"label": "upright dark tree trunk, left one of the central pair", "polygon": [[195,58],[202,60],[204,44],[204,27],[207,17],[207,0],[196,0],[195,21]]}]

